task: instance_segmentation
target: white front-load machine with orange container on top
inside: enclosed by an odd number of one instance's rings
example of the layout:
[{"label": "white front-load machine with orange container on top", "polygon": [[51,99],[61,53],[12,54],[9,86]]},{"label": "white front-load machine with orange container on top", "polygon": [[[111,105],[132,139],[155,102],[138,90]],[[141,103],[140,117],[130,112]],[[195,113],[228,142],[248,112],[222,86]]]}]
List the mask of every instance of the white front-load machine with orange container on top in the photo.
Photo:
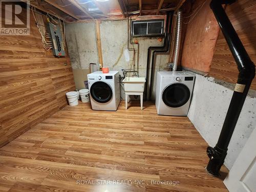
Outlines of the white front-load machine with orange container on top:
[{"label": "white front-load machine with orange container on top", "polygon": [[120,103],[119,72],[96,71],[87,75],[93,110],[116,111]]}]

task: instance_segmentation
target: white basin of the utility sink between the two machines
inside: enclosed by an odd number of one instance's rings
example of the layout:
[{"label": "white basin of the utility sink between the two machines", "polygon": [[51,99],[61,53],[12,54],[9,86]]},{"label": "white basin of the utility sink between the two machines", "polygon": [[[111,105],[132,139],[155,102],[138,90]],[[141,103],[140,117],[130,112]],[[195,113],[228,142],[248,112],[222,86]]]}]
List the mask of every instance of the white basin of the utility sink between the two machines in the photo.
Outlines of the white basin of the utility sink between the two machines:
[{"label": "white basin of the utility sink between the two machines", "polygon": [[125,77],[123,79],[125,92],[143,92],[145,77]]}]

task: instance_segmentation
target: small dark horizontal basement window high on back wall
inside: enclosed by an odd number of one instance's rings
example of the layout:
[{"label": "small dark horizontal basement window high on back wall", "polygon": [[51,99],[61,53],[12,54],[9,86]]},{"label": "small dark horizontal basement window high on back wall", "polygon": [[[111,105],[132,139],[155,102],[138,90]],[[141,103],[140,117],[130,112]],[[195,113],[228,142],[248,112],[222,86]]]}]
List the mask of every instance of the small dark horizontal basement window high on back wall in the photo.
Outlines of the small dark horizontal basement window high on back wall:
[{"label": "small dark horizontal basement window high on back wall", "polygon": [[132,36],[163,36],[164,19],[134,20],[132,22]]}]

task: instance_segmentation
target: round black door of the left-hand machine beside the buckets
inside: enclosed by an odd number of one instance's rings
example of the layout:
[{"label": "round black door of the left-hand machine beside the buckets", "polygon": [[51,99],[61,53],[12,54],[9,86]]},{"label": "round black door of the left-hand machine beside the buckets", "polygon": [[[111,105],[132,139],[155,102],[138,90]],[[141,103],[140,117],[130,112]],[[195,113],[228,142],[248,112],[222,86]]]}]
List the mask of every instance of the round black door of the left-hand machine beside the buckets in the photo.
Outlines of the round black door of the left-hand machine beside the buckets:
[{"label": "round black door of the left-hand machine beside the buckets", "polygon": [[97,81],[90,88],[92,98],[99,103],[109,102],[113,96],[110,85],[103,81]]}]

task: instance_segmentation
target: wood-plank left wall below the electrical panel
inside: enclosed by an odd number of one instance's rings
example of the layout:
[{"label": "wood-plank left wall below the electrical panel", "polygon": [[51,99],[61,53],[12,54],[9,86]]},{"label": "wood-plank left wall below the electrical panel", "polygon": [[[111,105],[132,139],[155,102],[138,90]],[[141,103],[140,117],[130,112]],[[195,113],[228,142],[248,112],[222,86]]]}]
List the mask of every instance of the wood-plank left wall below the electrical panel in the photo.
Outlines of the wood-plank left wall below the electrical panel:
[{"label": "wood-plank left wall below the electrical panel", "polygon": [[67,105],[69,58],[45,52],[30,14],[29,36],[0,36],[0,147]]}]

